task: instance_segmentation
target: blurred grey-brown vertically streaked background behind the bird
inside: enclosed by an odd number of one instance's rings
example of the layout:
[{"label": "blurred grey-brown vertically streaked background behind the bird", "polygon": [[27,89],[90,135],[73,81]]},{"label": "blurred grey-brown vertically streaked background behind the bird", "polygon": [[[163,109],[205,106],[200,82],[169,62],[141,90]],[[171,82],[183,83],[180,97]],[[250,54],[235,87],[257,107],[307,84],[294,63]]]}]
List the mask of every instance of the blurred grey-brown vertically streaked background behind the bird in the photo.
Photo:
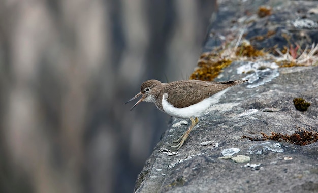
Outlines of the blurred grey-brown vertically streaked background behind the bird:
[{"label": "blurred grey-brown vertically streaked background behind the bird", "polygon": [[145,80],[188,79],[216,9],[0,0],[0,192],[132,192],[170,117],[124,103]]}]

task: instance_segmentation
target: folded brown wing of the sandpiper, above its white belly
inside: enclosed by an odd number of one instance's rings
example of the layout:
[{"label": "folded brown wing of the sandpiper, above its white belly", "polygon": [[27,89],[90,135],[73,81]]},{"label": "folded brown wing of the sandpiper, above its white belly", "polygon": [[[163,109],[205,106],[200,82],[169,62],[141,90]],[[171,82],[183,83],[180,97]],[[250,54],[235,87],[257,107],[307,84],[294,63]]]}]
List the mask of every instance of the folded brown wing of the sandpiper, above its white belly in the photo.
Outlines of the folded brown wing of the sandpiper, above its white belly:
[{"label": "folded brown wing of the sandpiper, above its white belly", "polygon": [[[247,80],[246,80],[247,81]],[[181,83],[182,82],[182,83]],[[168,102],[175,107],[183,108],[211,97],[228,87],[245,81],[206,82],[199,80],[176,81],[167,83],[164,93],[168,93]],[[173,96],[173,97],[172,97]],[[176,97],[175,97],[176,96]],[[173,103],[172,103],[173,101]]]}]

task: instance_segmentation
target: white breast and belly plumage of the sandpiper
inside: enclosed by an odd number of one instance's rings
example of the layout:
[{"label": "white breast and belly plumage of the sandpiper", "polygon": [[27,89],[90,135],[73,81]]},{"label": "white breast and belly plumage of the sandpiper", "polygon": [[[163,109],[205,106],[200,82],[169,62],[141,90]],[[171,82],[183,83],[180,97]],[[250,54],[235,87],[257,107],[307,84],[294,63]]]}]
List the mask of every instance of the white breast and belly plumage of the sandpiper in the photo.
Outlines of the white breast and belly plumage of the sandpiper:
[{"label": "white breast and belly plumage of the sandpiper", "polygon": [[218,103],[221,95],[224,94],[226,91],[228,91],[228,89],[229,88],[222,90],[212,95],[211,97],[206,98],[203,101],[200,101],[197,104],[190,105],[188,107],[183,107],[183,108],[177,108],[177,107],[174,107],[172,104],[170,104],[167,101],[169,96],[167,93],[165,93],[162,99],[163,109],[168,115],[173,117],[179,117],[179,118],[199,117],[213,104]]}]

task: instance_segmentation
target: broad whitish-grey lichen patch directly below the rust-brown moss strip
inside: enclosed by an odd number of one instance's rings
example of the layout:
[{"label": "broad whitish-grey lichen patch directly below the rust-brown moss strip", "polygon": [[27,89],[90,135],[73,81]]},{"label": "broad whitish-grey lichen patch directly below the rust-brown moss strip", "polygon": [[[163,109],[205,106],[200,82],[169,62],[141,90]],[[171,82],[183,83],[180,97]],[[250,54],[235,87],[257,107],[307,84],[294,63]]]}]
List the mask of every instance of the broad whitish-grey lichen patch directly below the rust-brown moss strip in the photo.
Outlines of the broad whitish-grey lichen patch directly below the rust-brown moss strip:
[{"label": "broad whitish-grey lichen patch directly below the rust-brown moss strip", "polygon": [[281,148],[280,143],[265,142],[261,144],[252,145],[247,152],[250,154],[262,154],[265,151],[272,151],[282,153],[284,150]]}]

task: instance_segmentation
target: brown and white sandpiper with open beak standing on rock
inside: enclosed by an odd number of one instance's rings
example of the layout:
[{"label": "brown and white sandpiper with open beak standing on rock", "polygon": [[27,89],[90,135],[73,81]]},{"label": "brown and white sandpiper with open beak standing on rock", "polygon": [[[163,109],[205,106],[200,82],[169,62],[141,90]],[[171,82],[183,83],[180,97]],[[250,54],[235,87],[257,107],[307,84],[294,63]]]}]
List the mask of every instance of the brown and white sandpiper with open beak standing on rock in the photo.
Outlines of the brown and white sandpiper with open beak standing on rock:
[{"label": "brown and white sandpiper with open beak standing on rock", "polygon": [[[213,104],[218,103],[222,94],[232,86],[242,84],[248,80],[233,80],[227,82],[207,82],[201,80],[181,80],[161,83],[158,80],[147,80],[141,84],[140,92],[128,102],[142,96],[135,106],[144,101],[154,103],[155,106],[173,117],[190,118],[192,124],[174,140],[178,143],[172,148],[179,150],[193,127],[199,122],[198,117]],[[126,102],[126,104],[128,103]]]}]

